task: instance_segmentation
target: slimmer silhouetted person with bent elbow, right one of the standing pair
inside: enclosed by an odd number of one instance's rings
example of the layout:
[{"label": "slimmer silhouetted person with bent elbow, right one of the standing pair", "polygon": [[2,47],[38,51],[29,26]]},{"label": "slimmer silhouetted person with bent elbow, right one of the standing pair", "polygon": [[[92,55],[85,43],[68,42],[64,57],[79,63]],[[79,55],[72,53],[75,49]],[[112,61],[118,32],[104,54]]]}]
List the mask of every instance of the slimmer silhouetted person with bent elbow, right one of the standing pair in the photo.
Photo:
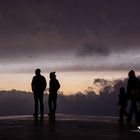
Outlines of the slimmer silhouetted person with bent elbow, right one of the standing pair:
[{"label": "slimmer silhouetted person with bent elbow, right one of the standing pair", "polygon": [[57,91],[60,88],[59,81],[56,79],[55,72],[50,73],[50,83],[49,83],[49,116],[55,116],[55,111],[57,107]]}]

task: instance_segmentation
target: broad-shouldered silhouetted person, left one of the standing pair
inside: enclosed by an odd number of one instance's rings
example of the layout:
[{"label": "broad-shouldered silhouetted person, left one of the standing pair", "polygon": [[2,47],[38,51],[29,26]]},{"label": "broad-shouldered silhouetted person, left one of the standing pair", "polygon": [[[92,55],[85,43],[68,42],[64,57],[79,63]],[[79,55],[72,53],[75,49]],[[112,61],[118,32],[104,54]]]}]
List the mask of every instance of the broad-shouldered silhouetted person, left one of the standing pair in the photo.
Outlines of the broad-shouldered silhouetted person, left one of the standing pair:
[{"label": "broad-shouldered silhouetted person, left one of the standing pair", "polygon": [[32,91],[34,93],[34,101],[35,101],[35,107],[34,107],[34,117],[38,117],[38,101],[40,103],[40,114],[41,118],[44,116],[44,103],[43,103],[43,92],[46,89],[47,83],[44,76],[42,76],[40,69],[35,70],[35,76],[32,79]]}]

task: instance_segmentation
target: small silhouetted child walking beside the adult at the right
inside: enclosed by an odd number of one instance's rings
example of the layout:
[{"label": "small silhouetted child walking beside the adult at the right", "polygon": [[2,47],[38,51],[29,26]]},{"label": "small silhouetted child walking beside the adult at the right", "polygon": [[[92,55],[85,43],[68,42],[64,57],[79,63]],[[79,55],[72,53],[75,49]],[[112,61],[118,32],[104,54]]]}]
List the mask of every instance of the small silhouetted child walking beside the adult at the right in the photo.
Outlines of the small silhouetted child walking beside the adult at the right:
[{"label": "small silhouetted child walking beside the adult at the right", "polygon": [[120,105],[120,122],[124,121],[124,116],[127,117],[128,119],[128,113],[126,112],[127,108],[127,94],[125,92],[125,88],[121,87],[120,88],[120,94],[119,94],[119,102],[118,105]]}]

